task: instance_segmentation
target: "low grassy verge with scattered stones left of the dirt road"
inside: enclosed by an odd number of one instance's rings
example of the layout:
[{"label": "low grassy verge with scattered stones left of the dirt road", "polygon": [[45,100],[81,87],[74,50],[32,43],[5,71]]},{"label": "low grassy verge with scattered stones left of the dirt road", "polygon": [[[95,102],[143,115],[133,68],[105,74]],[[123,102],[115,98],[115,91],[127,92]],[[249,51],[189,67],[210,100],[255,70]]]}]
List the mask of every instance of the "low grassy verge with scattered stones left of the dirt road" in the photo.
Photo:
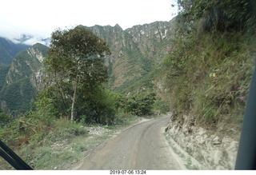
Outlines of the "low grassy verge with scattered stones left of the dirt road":
[{"label": "low grassy verge with scattered stones left of the dirt road", "polygon": [[[83,155],[79,154],[86,149],[82,149],[82,146],[86,144],[74,145],[78,142],[71,144],[69,141],[87,135],[87,130],[79,123],[72,123],[65,118],[38,117],[38,113],[34,112],[10,122],[0,132],[2,141],[34,169],[54,169],[54,166],[62,165],[65,161],[70,165],[72,161],[78,161]],[[0,167],[10,169],[10,165],[3,163]]]}]

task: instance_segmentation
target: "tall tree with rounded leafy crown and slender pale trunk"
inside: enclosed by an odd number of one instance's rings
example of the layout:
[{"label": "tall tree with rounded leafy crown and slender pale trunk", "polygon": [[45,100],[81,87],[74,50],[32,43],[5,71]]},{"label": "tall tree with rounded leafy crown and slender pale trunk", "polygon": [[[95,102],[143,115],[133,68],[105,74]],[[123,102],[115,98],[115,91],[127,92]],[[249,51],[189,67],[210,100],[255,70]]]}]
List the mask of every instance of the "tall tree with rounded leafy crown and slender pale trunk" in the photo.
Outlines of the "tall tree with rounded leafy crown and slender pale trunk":
[{"label": "tall tree with rounded leafy crown and slender pale trunk", "polygon": [[90,88],[106,81],[107,71],[103,58],[109,54],[106,42],[83,26],[56,30],[51,35],[50,50],[46,58],[47,78],[50,85],[57,87],[63,103],[68,97],[63,85],[72,87],[72,121],[78,87]]}]

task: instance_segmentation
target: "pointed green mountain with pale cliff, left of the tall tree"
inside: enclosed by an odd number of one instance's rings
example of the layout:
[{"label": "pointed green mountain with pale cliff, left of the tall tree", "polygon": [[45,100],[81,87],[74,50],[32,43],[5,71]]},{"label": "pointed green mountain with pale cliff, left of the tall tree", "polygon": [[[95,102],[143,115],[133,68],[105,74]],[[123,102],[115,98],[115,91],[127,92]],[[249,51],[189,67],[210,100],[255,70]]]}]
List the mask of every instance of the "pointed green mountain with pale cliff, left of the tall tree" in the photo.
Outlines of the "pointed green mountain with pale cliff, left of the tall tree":
[{"label": "pointed green mountain with pale cliff, left of the tall tree", "polygon": [[30,109],[30,101],[35,97],[40,82],[42,59],[46,57],[47,50],[47,46],[35,44],[14,58],[0,93],[0,100],[6,101],[10,110],[24,112]]}]

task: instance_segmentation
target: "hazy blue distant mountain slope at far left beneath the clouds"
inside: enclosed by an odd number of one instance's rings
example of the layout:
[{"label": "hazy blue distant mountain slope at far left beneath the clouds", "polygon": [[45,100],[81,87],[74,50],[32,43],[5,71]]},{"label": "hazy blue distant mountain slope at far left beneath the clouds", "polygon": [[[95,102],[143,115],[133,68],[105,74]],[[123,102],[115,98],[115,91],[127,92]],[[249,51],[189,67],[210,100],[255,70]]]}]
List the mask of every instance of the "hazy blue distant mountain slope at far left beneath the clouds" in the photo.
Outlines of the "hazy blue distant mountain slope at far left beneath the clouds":
[{"label": "hazy blue distant mountain slope at far left beneath the clouds", "polygon": [[6,38],[0,37],[0,65],[10,65],[14,56],[22,50],[26,50],[29,46],[25,44],[15,44]]}]

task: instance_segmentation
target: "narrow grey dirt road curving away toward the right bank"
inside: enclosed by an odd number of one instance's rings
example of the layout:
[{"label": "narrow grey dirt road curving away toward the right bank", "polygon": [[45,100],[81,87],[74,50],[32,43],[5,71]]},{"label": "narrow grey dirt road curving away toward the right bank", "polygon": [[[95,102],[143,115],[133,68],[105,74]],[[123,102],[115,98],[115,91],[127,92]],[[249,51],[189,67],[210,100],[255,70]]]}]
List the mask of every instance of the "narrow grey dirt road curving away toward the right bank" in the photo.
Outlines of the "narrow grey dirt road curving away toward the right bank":
[{"label": "narrow grey dirt road curving away toward the right bank", "polygon": [[94,149],[78,169],[183,169],[164,137],[169,116],[144,121]]}]

